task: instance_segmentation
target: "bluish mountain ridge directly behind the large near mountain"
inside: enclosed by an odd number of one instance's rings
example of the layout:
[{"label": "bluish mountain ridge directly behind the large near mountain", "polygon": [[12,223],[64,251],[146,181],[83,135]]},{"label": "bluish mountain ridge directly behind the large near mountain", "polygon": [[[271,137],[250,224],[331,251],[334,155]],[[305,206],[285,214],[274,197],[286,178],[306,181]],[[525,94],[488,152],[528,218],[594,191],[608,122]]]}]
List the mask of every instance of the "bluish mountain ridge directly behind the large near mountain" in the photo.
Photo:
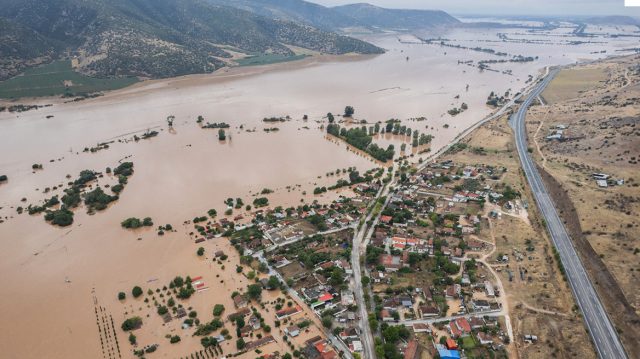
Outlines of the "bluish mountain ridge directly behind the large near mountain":
[{"label": "bluish mountain ridge directly behind the large near mountain", "polygon": [[251,11],[271,19],[289,20],[321,30],[341,32],[365,24],[330,8],[303,0],[205,0],[210,3]]}]

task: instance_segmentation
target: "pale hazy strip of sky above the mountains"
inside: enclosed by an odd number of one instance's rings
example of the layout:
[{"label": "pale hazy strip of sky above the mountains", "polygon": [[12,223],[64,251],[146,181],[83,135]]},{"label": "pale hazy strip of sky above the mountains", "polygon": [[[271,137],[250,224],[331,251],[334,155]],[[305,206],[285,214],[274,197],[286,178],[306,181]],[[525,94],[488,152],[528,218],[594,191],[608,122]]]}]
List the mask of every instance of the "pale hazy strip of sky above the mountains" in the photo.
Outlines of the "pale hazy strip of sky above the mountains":
[{"label": "pale hazy strip of sky above the mountains", "polygon": [[438,9],[456,15],[627,15],[640,17],[640,0],[307,0],[324,6],[366,2],[386,8]]}]

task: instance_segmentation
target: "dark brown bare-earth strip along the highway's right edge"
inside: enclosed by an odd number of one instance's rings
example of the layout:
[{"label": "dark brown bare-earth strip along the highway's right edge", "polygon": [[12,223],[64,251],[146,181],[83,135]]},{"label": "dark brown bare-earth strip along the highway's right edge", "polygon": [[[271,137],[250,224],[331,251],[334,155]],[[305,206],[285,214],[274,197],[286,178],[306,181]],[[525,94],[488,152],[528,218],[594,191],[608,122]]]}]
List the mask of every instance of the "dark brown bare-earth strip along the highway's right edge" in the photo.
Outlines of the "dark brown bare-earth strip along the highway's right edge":
[{"label": "dark brown bare-earth strip along the highway's right edge", "polygon": [[576,213],[573,202],[567,195],[562,185],[553,176],[536,164],[538,172],[553,199],[554,205],[560,213],[563,213],[565,227],[573,239],[578,254],[582,259],[602,302],[607,309],[609,317],[616,328],[620,328],[620,337],[629,353],[640,352],[640,316],[629,304],[618,282],[608,271],[596,251],[583,235],[580,219]]}]

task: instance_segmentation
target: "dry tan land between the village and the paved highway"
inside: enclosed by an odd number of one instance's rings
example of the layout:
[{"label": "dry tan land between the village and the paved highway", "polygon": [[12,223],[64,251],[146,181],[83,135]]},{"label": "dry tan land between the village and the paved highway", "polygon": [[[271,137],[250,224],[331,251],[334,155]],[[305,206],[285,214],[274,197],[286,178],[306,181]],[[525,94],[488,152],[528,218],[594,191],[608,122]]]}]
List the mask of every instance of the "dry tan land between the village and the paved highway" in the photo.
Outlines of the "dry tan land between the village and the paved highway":
[{"label": "dry tan land between the village and the paved highway", "polygon": [[[512,355],[517,351],[520,358],[596,358],[554,259],[542,217],[530,200],[533,196],[522,175],[507,120],[508,116],[502,116],[487,122],[443,157],[468,166],[505,168],[499,178],[485,178],[483,185],[496,192],[509,186],[521,194],[511,201],[511,209],[505,200],[485,203],[480,231],[471,238],[488,247],[469,252],[468,257],[482,264],[483,280],[501,292],[498,300],[510,316],[515,337]],[[527,335],[536,336],[537,342],[526,341]]]}]

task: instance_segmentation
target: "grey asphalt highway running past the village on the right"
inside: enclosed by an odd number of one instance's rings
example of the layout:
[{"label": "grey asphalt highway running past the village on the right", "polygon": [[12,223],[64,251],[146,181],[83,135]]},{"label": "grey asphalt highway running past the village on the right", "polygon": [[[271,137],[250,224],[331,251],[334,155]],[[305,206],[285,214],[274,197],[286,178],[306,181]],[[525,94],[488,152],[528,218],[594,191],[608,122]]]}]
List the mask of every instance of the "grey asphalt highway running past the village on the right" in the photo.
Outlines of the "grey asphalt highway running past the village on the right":
[{"label": "grey asphalt highway running past the village on the right", "polygon": [[538,85],[531,96],[522,103],[518,112],[511,117],[509,124],[516,134],[516,147],[527,181],[533,191],[536,204],[547,222],[547,229],[553,243],[558,252],[560,252],[560,258],[566,270],[569,285],[571,286],[576,303],[582,311],[582,318],[593,339],[598,356],[603,359],[627,359],[629,356],[607,316],[607,312],[593,287],[593,283],[591,283],[584,265],[578,257],[578,253],[527,151],[527,140],[524,129],[527,109],[531,101],[540,95],[558,71],[560,71],[560,69],[554,70]]}]

